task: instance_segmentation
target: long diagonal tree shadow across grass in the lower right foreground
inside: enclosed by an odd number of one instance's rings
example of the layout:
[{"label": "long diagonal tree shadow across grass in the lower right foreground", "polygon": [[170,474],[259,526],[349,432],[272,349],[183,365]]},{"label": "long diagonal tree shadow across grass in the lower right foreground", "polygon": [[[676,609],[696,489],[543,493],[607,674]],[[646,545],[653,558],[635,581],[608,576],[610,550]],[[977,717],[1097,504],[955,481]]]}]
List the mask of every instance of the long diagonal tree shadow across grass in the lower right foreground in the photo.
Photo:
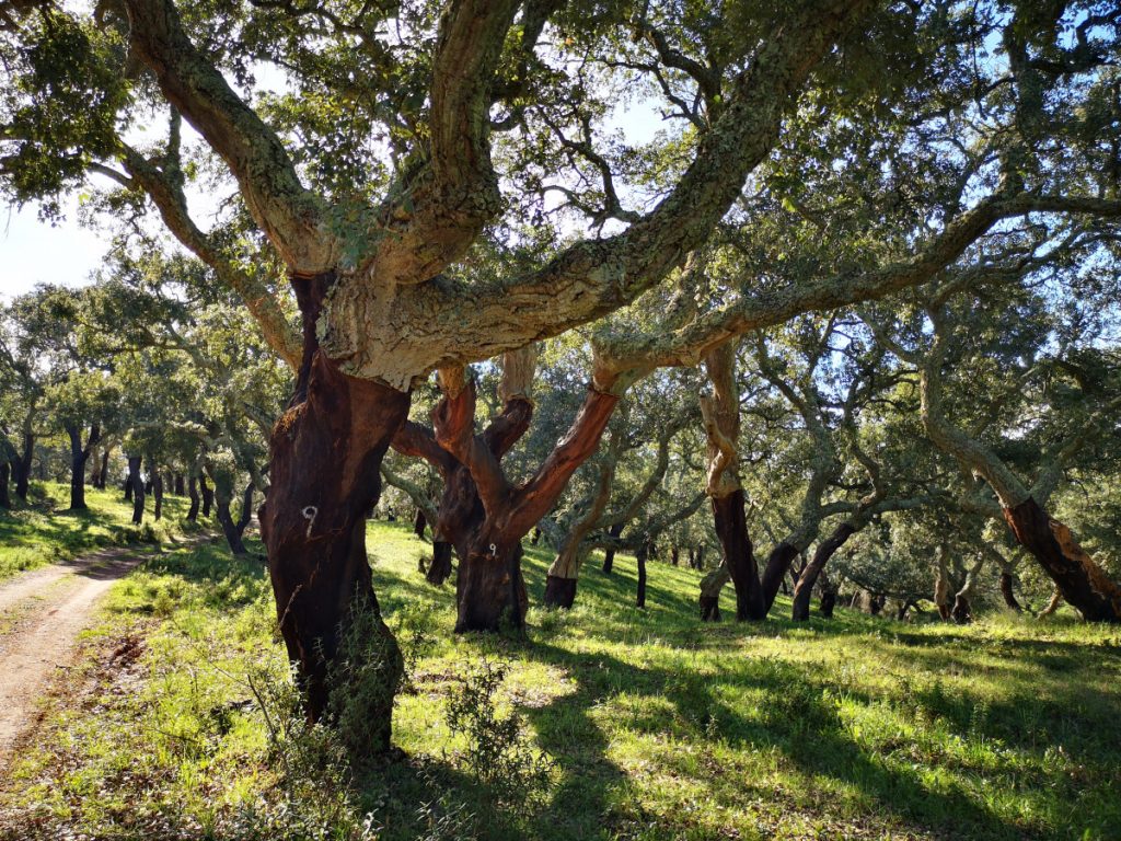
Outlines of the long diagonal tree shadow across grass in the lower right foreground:
[{"label": "long diagonal tree shadow across grass in the lower right foreground", "polygon": [[[589,719],[591,711],[608,702],[619,691],[648,699],[665,699],[676,712],[674,738],[697,746],[719,740],[733,748],[750,748],[757,754],[778,751],[785,763],[793,765],[807,778],[818,775],[853,786],[867,797],[878,814],[887,815],[890,824],[901,824],[911,831],[943,832],[948,837],[971,839],[1022,839],[1031,837],[1022,826],[1011,824],[978,805],[953,785],[933,788],[924,784],[916,767],[889,764],[862,748],[846,733],[837,715],[835,702],[824,692],[823,684],[807,669],[775,659],[759,659],[738,664],[736,672],[725,672],[717,678],[711,675],[682,675],[673,669],[638,667],[614,657],[594,654],[574,655],[555,646],[538,644],[526,649],[526,656],[569,671],[577,682],[572,695],[557,699],[548,706],[531,711],[531,719],[543,733],[543,741],[556,741],[556,733],[566,733],[566,721]],[[758,715],[745,715],[716,696],[715,685],[739,685],[761,691],[769,706]],[[871,699],[864,699],[871,703]],[[665,734],[667,723],[660,717],[649,720],[632,719],[646,734]],[[584,802],[566,803],[572,791],[562,788],[554,798],[559,807],[575,812],[594,808],[602,814],[610,803],[606,786],[626,779],[614,765],[606,760],[608,741],[595,726],[595,739],[581,746],[581,754],[590,755],[592,767],[596,759],[610,774],[597,786],[600,794],[584,794]],[[553,734],[553,736],[550,736]],[[560,751],[571,751],[567,733],[556,745]],[[665,761],[678,774],[684,765],[674,767],[676,751],[664,751]],[[743,805],[743,782],[714,774],[707,780],[707,794],[731,811]],[[577,793],[585,788],[574,780]],[[775,792],[770,792],[775,796]],[[661,820],[673,823],[673,816]],[[633,828],[632,828],[633,829]],[[665,826],[663,838],[674,838],[684,828]],[[563,835],[557,835],[562,838]]]}]

